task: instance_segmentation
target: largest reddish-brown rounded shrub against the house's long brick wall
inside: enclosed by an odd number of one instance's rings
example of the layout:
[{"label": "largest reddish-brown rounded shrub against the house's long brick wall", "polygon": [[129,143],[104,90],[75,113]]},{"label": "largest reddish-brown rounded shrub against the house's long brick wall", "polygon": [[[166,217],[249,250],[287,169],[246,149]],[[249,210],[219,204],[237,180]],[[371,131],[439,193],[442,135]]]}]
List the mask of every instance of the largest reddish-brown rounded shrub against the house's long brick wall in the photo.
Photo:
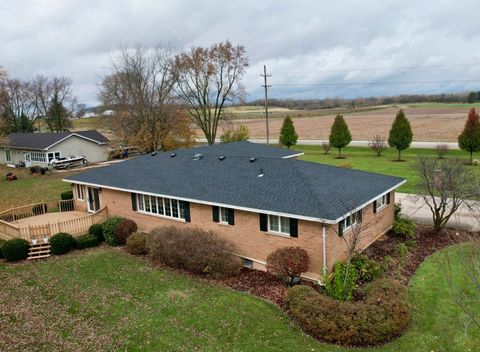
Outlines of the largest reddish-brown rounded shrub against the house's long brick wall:
[{"label": "largest reddish-brown rounded shrub against the house's long brick wall", "polygon": [[237,275],[242,263],[234,245],[213,231],[179,229],[174,226],[154,229],[147,238],[149,256],[163,264],[212,277]]}]

